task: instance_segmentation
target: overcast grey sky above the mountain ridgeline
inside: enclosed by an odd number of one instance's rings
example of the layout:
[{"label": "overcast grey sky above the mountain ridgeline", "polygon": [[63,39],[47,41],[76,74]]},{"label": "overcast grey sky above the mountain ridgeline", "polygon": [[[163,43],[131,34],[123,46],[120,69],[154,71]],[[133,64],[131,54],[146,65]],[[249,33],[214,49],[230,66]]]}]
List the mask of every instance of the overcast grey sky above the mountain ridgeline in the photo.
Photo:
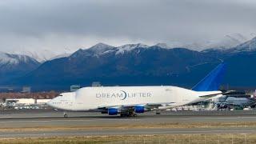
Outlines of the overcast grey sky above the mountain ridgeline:
[{"label": "overcast grey sky above the mountain ridgeline", "polygon": [[255,0],[1,0],[0,50],[248,36],[255,16]]}]

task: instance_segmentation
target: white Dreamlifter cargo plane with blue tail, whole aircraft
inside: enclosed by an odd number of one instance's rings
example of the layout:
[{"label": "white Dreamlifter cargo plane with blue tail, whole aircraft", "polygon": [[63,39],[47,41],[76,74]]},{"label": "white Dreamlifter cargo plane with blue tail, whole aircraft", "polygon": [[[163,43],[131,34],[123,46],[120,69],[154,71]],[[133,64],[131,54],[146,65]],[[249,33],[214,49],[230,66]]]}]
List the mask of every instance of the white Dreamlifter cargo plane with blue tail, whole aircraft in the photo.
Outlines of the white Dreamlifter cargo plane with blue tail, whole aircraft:
[{"label": "white Dreamlifter cargo plane with blue tail, whole aircraft", "polygon": [[[226,64],[219,64],[191,90],[178,86],[84,87],[62,93],[47,102],[57,110],[95,111],[102,114],[136,116],[151,110],[166,110],[222,96],[218,90]],[[64,117],[67,114],[64,113]]]}]

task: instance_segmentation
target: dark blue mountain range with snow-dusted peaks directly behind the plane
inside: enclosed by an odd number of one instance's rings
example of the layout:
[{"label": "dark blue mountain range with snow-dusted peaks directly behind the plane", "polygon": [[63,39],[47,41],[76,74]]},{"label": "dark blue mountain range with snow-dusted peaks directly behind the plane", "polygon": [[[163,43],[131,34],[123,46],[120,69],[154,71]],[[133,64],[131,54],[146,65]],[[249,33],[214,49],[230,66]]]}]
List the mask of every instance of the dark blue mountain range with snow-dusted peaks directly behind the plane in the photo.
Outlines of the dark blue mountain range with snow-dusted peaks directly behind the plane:
[{"label": "dark blue mountain range with snow-dusted peaks directly behind the plane", "polygon": [[[253,62],[256,54],[251,52],[256,51],[255,43],[256,38],[253,38],[234,48],[204,51],[170,48],[162,43],[118,47],[98,43],[77,50],[66,58],[44,62],[38,69],[17,78],[15,82],[17,85],[49,85],[50,89],[52,86],[68,87],[73,83],[90,85],[94,81],[106,85],[178,86],[186,83],[187,86],[193,86],[223,60],[229,63],[226,82],[230,86],[255,86],[256,68]],[[232,50],[237,50],[237,53],[232,53]],[[238,70],[238,67],[242,69]]]}]

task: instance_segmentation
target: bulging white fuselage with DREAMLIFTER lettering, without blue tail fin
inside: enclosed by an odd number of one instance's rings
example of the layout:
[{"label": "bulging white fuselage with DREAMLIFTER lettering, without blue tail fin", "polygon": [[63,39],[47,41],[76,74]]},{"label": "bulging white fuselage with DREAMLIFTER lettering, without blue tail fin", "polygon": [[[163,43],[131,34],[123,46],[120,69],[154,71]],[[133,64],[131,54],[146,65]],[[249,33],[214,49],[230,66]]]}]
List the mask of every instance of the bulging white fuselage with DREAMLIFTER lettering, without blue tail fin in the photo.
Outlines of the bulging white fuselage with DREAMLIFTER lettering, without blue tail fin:
[{"label": "bulging white fuselage with DREAMLIFTER lettering, without blue tail fin", "polygon": [[102,107],[161,105],[157,109],[168,109],[201,102],[204,95],[221,94],[220,91],[197,92],[177,86],[106,86],[84,87],[75,92],[62,93],[47,102],[61,110],[90,111]]}]

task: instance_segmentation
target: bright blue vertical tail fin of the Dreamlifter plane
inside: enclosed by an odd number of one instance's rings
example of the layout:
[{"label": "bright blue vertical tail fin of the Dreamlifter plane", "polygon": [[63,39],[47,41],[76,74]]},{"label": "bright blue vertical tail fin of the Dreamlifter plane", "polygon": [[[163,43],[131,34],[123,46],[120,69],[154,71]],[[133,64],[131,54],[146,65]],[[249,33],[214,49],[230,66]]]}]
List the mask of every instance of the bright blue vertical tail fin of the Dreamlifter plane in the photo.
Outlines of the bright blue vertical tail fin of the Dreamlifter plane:
[{"label": "bright blue vertical tail fin of the Dreamlifter plane", "polygon": [[226,64],[219,64],[212,70],[205,78],[203,78],[192,90],[194,91],[214,91],[218,90],[221,85],[224,73],[226,71]]}]

